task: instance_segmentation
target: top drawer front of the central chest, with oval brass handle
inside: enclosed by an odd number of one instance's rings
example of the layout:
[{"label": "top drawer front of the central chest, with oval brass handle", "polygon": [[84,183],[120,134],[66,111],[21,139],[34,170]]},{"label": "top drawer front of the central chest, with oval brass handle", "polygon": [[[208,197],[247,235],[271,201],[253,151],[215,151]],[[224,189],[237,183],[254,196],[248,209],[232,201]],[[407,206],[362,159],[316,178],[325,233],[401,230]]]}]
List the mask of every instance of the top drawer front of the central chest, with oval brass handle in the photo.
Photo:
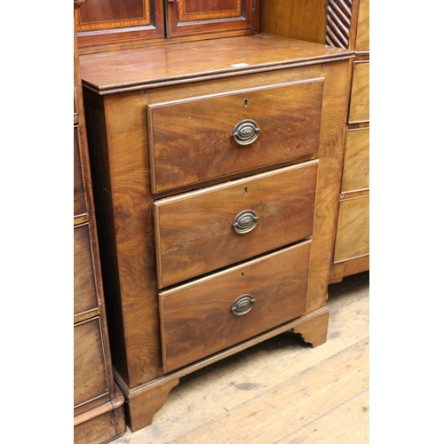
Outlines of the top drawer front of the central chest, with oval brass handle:
[{"label": "top drawer front of the central chest, with oval brass handle", "polygon": [[[319,148],[323,81],[148,106],[153,192],[311,155]],[[251,123],[252,121],[252,123]],[[258,138],[249,145],[241,143]]]}]

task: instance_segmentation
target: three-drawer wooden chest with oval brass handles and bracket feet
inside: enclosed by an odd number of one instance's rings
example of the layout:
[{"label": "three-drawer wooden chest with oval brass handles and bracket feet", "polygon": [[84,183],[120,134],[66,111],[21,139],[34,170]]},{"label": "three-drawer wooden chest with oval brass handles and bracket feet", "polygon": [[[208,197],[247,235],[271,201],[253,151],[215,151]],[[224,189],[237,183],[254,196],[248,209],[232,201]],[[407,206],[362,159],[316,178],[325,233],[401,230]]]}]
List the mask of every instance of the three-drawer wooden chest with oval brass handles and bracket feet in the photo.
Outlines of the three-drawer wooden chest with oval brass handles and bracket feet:
[{"label": "three-drawer wooden chest with oval brass handles and bracket feet", "polygon": [[351,59],[261,34],[81,55],[131,430],[196,369],[287,330],[325,341]]}]

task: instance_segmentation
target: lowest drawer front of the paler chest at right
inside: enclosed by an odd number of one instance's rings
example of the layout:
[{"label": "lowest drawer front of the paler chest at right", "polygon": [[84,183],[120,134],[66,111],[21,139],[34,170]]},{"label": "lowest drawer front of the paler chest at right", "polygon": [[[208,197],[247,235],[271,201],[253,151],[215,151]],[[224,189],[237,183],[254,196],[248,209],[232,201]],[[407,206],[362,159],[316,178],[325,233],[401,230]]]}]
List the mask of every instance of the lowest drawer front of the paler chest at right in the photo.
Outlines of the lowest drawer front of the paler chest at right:
[{"label": "lowest drawer front of the paler chest at right", "polygon": [[369,254],[369,195],[339,202],[335,263]]}]

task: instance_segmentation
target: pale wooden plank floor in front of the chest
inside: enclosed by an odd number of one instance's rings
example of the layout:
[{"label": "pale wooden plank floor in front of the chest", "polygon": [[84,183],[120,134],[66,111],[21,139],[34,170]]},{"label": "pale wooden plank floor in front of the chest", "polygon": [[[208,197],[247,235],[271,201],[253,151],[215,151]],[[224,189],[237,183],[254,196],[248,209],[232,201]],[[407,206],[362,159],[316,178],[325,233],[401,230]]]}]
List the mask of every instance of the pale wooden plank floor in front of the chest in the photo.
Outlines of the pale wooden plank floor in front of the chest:
[{"label": "pale wooden plank floor in front of the chest", "polygon": [[369,443],[369,273],[329,287],[327,343],[283,334],[183,377],[115,444]]}]

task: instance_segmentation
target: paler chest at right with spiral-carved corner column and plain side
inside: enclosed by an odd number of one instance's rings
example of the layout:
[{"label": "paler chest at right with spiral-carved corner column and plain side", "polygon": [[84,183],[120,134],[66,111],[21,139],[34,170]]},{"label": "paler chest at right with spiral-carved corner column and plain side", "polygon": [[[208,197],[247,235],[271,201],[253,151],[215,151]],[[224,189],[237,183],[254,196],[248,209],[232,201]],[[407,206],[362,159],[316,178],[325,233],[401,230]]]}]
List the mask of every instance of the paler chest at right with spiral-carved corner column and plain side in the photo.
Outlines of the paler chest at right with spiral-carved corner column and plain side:
[{"label": "paler chest at right with spiral-carved corner column and plain side", "polygon": [[329,277],[341,281],[369,270],[369,0],[262,0],[260,12],[266,32],[356,52]]}]

